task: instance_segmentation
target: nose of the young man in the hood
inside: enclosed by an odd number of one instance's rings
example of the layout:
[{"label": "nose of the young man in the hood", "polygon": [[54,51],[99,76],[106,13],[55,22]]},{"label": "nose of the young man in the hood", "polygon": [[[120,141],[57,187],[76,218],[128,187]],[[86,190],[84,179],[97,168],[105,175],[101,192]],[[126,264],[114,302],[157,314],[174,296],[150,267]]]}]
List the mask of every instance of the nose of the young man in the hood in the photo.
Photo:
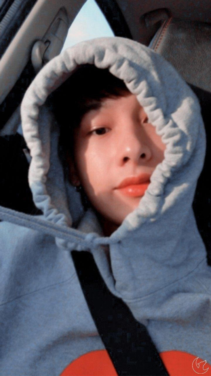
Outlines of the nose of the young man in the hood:
[{"label": "nose of the young man in the hood", "polygon": [[123,127],[119,138],[119,165],[125,163],[146,164],[152,158],[151,146],[144,132],[139,127]]}]

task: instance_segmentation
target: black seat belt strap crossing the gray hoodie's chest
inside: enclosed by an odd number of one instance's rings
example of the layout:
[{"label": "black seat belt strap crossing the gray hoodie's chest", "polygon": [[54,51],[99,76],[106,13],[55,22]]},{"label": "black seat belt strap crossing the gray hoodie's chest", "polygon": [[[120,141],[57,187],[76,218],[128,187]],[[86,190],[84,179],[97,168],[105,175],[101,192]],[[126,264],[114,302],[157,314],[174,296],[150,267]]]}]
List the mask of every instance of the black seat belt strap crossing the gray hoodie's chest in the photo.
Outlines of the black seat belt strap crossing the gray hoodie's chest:
[{"label": "black seat belt strap crossing the gray hoodie's chest", "polygon": [[90,313],[118,375],[169,375],[145,325],[109,291],[92,254],[71,253]]}]

